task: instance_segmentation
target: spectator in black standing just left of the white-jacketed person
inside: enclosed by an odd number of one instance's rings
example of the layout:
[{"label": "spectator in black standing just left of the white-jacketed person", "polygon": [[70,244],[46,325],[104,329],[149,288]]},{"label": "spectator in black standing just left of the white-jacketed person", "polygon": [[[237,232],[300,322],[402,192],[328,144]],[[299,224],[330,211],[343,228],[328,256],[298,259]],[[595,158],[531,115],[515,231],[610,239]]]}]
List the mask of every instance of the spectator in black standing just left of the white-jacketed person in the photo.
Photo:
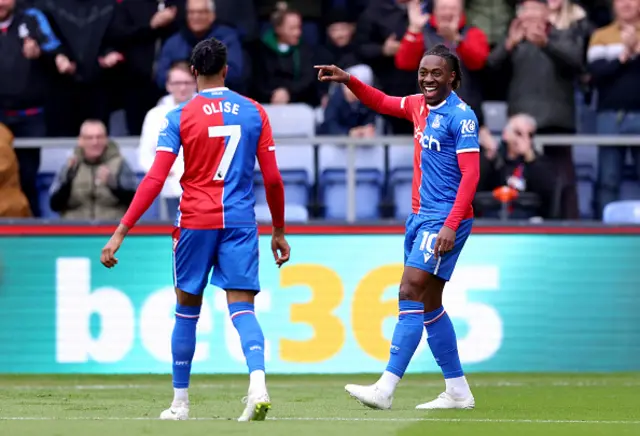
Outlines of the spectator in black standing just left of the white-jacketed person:
[{"label": "spectator in black standing just left of the white-jacketed person", "polygon": [[118,91],[130,135],[140,134],[145,114],[161,96],[154,64],[164,41],[179,30],[179,6],[184,8],[184,0],[122,0],[116,5],[112,29],[124,56]]}]

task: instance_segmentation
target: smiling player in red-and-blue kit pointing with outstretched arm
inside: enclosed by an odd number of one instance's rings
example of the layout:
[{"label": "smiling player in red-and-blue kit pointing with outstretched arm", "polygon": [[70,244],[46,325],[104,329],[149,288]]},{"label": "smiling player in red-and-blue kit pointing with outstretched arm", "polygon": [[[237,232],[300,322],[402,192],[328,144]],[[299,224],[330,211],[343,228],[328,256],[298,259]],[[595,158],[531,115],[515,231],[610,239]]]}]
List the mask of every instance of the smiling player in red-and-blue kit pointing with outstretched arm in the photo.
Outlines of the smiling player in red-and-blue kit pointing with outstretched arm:
[{"label": "smiling player in red-and-blue kit pointing with outstretched arm", "polygon": [[478,121],[453,90],[460,86],[460,61],[445,46],[420,62],[422,94],[389,97],[336,66],[316,67],[319,80],[345,83],[371,109],[406,118],[415,126],[413,213],[406,223],[404,273],[399,316],[386,371],[370,386],[347,385],[347,392],[373,409],[389,409],[427,330],[429,348],[444,374],[446,390],[417,409],[472,409],[475,400],[462,371],[456,334],[442,307],[442,291],[471,233],[479,178]]}]

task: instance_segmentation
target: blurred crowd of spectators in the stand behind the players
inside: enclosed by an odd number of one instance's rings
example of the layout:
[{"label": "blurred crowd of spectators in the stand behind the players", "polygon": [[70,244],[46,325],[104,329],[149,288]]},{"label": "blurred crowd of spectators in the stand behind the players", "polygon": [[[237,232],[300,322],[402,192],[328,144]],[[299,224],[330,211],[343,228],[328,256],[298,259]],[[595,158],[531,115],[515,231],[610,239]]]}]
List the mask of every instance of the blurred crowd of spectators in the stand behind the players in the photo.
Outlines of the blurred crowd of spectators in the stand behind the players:
[{"label": "blurred crowd of spectators in the stand behind the players", "polygon": [[[413,126],[376,125],[346,88],[317,82],[314,64],[408,95],[418,91],[425,49],[455,49],[458,93],[482,126],[479,191],[493,200],[505,186],[535,194],[534,216],[579,215],[571,147],[537,150],[535,134],[640,134],[640,0],[0,0],[0,123],[8,129],[0,143],[79,135],[51,207],[68,218],[117,218],[135,175],[109,140],[111,114],[124,111],[126,133],[141,135],[140,164],[150,167],[164,115],[195,92],[190,51],[211,36],[228,47],[229,88],[264,104],[311,105],[321,114],[318,134],[352,137],[413,134]],[[488,100],[508,105],[501,132],[485,125]],[[593,120],[581,125],[587,111]],[[627,152],[599,150],[596,218],[619,197]],[[640,177],[640,147],[631,153]],[[26,203],[0,194],[0,216],[39,216],[40,149],[4,154],[0,189],[21,187]],[[18,165],[19,180],[1,176]],[[179,178],[178,161],[163,191],[174,201]],[[481,197],[480,215],[492,216]]]}]

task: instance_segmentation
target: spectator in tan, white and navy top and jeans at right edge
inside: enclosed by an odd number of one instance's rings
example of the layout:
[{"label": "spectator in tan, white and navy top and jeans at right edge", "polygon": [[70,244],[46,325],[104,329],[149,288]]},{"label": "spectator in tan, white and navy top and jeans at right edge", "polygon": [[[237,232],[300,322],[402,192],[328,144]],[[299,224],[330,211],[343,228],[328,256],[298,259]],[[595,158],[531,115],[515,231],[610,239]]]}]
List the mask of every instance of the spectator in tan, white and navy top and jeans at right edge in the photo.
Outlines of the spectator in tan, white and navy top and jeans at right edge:
[{"label": "spectator in tan, white and navy top and jeans at right edge", "polygon": [[[589,71],[598,90],[597,131],[640,134],[640,2],[614,0],[615,22],[596,30],[588,51]],[[619,199],[627,147],[599,147],[596,215]],[[631,147],[640,178],[640,148]]]}]

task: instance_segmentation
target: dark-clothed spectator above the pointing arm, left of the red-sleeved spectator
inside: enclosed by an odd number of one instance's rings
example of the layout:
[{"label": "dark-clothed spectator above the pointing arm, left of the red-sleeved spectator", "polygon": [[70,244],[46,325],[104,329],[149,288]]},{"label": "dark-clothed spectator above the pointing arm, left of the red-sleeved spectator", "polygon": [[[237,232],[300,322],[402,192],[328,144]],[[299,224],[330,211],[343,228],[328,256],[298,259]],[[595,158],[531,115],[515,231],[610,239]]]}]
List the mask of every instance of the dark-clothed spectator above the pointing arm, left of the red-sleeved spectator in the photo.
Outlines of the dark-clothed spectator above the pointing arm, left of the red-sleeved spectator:
[{"label": "dark-clothed spectator above the pointing arm, left of the red-sleeved spectator", "polygon": [[[378,87],[389,95],[418,92],[415,71],[398,70],[394,57],[407,31],[410,0],[370,0],[356,26],[354,43],[358,59],[376,73]],[[413,135],[413,125],[400,118],[384,117],[396,135]]]}]

